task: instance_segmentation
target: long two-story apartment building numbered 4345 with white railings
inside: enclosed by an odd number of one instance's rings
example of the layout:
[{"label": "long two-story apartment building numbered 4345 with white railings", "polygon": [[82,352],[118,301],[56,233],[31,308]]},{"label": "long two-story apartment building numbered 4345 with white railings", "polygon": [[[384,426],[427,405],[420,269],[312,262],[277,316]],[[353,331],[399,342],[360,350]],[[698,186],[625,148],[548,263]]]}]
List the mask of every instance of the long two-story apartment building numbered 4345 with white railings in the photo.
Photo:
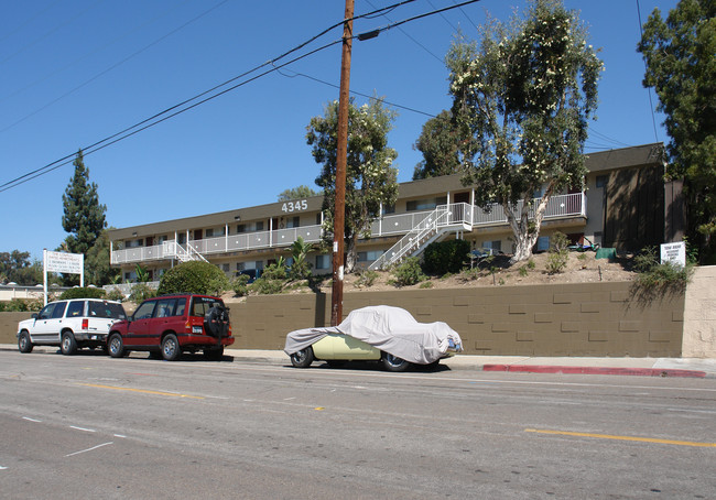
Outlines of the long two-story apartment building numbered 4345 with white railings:
[{"label": "long two-story apartment building numbered 4345 with white railings", "polygon": [[[680,240],[681,189],[663,180],[662,148],[655,143],[589,154],[586,191],[552,198],[536,250],[546,249],[557,230],[574,241],[587,238],[619,250]],[[459,174],[401,183],[395,205],[383,207],[371,237],[359,241],[359,265],[380,267],[442,238],[510,253],[511,231],[501,207],[486,211],[475,206],[476,189],[464,186]],[[322,200],[315,196],[113,229],[111,264],[122,270],[124,282],[134,280],[137,264],[158,280],[173,265],[196,259],[229,276],[260,273],[280,256],[289,258],[297,237],[321,241]],[[310,258],[314,273],[332,271],[329,253],[314,250]]]}]

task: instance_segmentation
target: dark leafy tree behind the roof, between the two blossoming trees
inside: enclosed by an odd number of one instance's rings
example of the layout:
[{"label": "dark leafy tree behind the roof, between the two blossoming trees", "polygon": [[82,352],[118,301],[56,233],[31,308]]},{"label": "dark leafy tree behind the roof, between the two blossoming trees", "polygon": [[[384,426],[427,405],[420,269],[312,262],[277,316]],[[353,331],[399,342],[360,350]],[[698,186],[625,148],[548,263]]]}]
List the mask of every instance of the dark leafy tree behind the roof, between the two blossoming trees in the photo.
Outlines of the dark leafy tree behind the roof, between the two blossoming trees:
[{"label": "dark leafy tree behind the roof, between the two blossoming trees", "polygon": [[413,181],[462,172],[459,135],[449,111],[443,110],[425,122],[413,149],[423,153],[423,160],[415,165]]}]

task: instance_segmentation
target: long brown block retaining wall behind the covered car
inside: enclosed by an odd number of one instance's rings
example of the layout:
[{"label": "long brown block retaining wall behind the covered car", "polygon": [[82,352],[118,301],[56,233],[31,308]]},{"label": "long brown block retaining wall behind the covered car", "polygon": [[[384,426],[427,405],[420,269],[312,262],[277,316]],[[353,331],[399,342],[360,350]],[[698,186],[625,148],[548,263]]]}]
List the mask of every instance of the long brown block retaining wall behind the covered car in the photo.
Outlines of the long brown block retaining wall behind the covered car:
[{"label": "long brown block retaining wall behind the covered car", "polygon": [[[463,337],[465,354],[680,357],[684,300],[640,308],[629,283],[359,292],[344,296],[344,315],[366,305],[443,320]],[[231,307],[235,347],[282,349],[285,334],[329,324],[329,295],[252,296]],[[243,318],[252,318],[247,320]]]}]

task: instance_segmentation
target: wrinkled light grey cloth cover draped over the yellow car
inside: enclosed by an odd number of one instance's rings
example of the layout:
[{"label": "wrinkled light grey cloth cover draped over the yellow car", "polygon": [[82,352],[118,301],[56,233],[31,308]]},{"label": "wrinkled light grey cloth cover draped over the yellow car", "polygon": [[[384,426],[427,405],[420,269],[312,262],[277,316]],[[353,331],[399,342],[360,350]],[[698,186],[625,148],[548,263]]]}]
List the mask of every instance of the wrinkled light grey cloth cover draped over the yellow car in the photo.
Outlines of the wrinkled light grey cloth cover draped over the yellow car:
[{"label": "wrinkled light grey cloth cover draped over the yellow car", "polygon": [[291,356],[328,334],[349,335],[417,365],[437,361],[445,356],[451,344],[456,350],[462,350],[463,345],[459,334],[446,323],[419,323],[405,309],[375,305],[351,311],[338,326],[291,331],[283,351]]}]

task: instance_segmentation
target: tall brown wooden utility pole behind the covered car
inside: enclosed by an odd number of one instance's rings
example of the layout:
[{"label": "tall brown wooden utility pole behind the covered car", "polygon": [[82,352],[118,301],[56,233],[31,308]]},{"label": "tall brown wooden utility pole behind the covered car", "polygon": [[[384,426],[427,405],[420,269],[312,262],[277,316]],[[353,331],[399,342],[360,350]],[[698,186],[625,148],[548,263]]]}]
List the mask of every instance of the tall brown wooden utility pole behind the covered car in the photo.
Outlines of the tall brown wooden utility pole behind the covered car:
[{"label": "tall brown wooden utility pole behind the covered car", "polygon": [[350,51],[352,47],[354,0],[346,0],[340,57],[338,137],[336,145],[336,200],[333,224],[333,293],[330,325],[343,320],[344,232],[346,224],[346,163],[348,159],[348,104],[350,99]]}]

